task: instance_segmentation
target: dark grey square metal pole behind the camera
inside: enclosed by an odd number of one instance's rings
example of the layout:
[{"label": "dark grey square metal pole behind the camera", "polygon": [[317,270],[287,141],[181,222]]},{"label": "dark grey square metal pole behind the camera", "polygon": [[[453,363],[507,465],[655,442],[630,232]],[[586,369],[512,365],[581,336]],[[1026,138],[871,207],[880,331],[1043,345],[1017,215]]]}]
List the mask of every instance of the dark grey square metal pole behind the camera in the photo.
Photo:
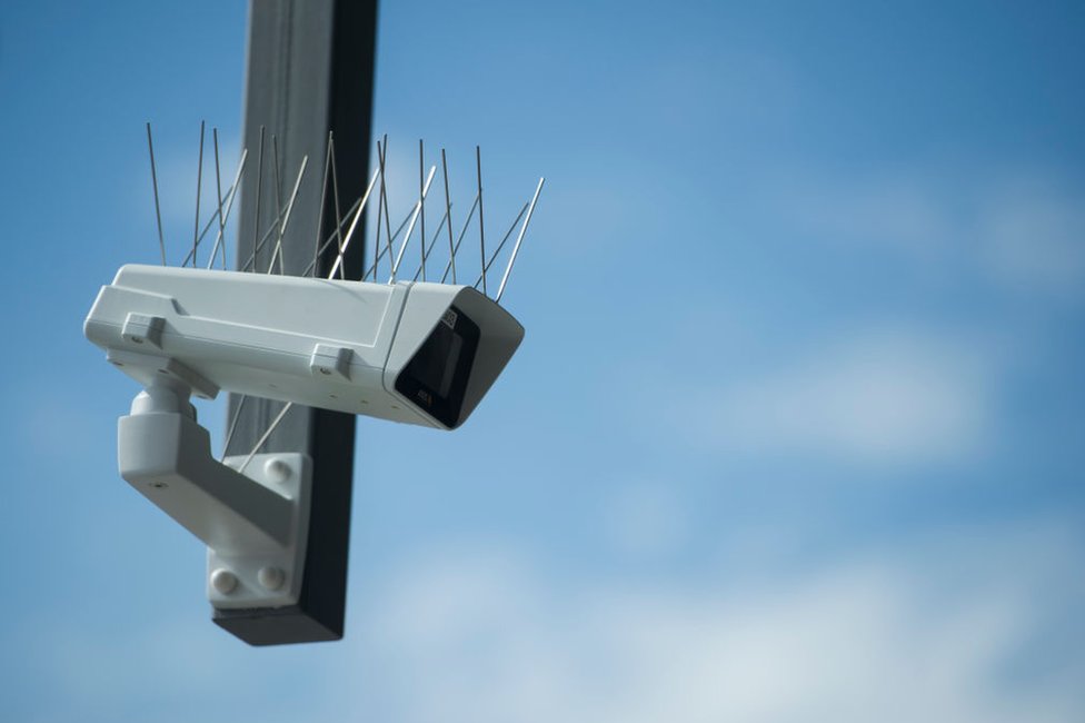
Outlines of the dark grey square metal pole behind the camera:
[{"label": "dark grey square metal pole behind the camera", "polygon": [[[311,263],[318,226],[320,238],[334,230],[334,204],[327,204],[323,218],[319,218],[329,130],[335,133],[339,196],[345,206],[349,207],[365,191],[369,180],[376,26],[376,0],[250,2],[245,92],[249,168],[241,192],[235,254],[238,268],[252,254],[253,238],[263,236],[275,222],[277,199],[286,205],[305,156],[309,158],[307,178],[282,241],[285,273],[300,275]],[[257,184],[261,127],[267,146],[262,153],[262,182]],[[272,151],[272,137],[277,152]],[[278,188],[271,166],[276,156]],[[365,248],[361,235],[356,236],[345,259],[350,279],[360,279],[364,267]],[[273,247],[272,238],[257,257],[257,271],[267,271]],[[332,244],[320,258],[318,276],[327,276],[336,250]],[[230,396],[230,418],[239,400],[237,395]],[[281,408],[277,402],[248,398],[227,453],[248,454]],[[213,620],[253,645],[338,640],[342,637],[347,594],[355,417],[296,406],[261,452],[303,452],[313,462],[301,596],[297,605],[283,608],[216,610]]]}]

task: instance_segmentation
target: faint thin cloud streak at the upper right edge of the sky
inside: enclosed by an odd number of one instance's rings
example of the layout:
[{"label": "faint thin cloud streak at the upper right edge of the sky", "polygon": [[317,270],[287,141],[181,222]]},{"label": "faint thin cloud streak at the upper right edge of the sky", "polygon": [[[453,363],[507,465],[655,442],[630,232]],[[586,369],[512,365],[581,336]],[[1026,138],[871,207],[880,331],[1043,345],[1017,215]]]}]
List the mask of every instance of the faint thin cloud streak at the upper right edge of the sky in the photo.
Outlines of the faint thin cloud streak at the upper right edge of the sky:
[{"label": "faint thin cloud streak at the upper right edge of the sky", "polygon": [[792,231],[894,249],[963,281],[978,277],[1037,297],[1076,297],[1085,281],[1085,199],[1049,174],[954,181],[938,168],[848,178],[788,172],[762,194]]}]

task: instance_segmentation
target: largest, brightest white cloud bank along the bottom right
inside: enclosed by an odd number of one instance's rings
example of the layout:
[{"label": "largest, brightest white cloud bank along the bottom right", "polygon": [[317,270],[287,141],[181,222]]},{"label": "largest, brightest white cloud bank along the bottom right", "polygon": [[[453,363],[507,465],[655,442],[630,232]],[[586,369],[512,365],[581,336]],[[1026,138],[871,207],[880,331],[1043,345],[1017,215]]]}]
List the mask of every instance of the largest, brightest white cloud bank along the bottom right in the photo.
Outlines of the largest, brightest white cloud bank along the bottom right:
[{"label": "largest, brightest white cloud bank along the bottom right", "polygon": [[737,593],[569,591],[507,556],[437,555],[374,605],[356,704],[404,721],[1075,720],[1079,648],[1005,672],[1085,602],[1065,584],[1072,539],[983,529]]}]

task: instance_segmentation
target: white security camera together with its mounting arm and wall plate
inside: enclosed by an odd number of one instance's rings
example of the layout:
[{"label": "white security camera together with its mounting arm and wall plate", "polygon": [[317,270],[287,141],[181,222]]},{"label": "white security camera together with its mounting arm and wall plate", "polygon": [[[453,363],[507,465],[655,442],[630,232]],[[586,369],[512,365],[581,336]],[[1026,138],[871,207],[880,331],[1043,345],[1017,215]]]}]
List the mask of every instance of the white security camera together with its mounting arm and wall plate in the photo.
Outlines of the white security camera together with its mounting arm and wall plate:
[{"label": "white security camera together with its mounting arm and wall plate", "polygon": [[190,396],[220,389],[439,429],[464,424],[524,328],[468,286],[123,266],[83,326],[143,386],[121,476],[208,546],[220,610],[298,602],[311,462],[211,455]]}]

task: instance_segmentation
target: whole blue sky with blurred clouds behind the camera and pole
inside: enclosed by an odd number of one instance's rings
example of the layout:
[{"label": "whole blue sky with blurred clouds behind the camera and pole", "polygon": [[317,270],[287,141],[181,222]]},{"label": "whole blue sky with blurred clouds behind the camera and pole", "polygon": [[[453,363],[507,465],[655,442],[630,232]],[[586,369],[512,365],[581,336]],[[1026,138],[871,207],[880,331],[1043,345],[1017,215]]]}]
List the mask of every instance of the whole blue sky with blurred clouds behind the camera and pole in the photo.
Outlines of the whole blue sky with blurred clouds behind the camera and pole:
[{"label": "whole blue sky with blurred clouds behind the camera and pole", "polygon": [[237,158],[245,13],[0,10],[0,717],[1085,716],[1077,4],[385,3],[394,159],[480,143],[492,228],[547,177],[527,338],[455,434],[360,420],[347,636],[276,650],[81,335],[145,121],[175,254],[201,119]]}]

